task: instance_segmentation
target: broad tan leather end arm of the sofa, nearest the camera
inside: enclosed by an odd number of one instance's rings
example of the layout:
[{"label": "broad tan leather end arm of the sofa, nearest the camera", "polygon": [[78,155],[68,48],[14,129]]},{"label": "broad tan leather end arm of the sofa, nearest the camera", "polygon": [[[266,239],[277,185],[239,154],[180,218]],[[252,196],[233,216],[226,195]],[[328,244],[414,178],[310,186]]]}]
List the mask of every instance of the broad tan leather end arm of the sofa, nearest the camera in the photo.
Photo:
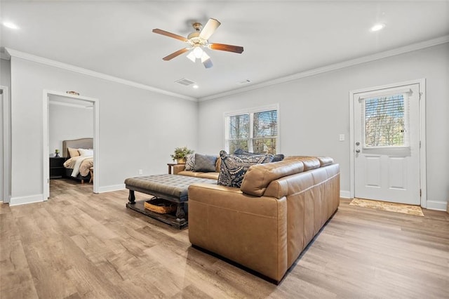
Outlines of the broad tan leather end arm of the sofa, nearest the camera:
[{"label": "broad tan leather end arm of the sofa, nearest the camera", "polygon": [[280,281],[288,269],[286,197],[254,197],[234,187],[190,185],[189,240]]}]

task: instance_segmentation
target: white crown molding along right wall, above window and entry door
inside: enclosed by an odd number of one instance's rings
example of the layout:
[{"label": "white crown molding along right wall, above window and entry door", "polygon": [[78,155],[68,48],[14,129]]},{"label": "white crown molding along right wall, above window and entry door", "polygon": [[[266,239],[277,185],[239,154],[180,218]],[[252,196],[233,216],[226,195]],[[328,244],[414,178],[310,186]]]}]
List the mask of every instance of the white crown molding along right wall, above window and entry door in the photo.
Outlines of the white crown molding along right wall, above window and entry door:
[{"label": "white crown molding along right wall, above window and entry door", "polygon": [[438,45],[445,44],[448,42],[449,42],[449,35],[445,35],[445,36],[438,37],[436,39],[429,39],[428,41],[422,41],[420,43],[411,44],[411,45],[403,46],[400,48],[395,48],[393,50],[383,51],[383,52],[375,53],[373,55],[367,55],[367,56],[363,56],[361,58],[355,58],[355,59],[347,60],[344,62],[338,62],[333,65],[327,65],[326,67],[309,69],[305,72],[300,72],[300,73],[293,74],[293,75],[286,76],[286,77],[279,77],[277,79],[265,81],[260,84],[254,84],[254,85],[239,88],[239,89],[233,89],[232,91],[225,91],[223,93],[216,93],[214,95],[208,95],[206,97],[199,98],[198,100],[199,100],[199,102],[202,102],[205,100],[213,100],[216,98],[222,98],[227,95],[235,95],[237,93],[253,91],[255,89],[264,88],[264,87],[272,86],[272,85],[276,85],[276,84],[282,84],[282,83],[286,83],[288,81],[302,79],[305,77],[311,77],[316,74],[323,74],[325,72],[332,72],[337,69],[343,69],[345,67],[351,67],[353,65],[360,65],[362,63],[366,63],[366,62],[370,62],[370,61],[374,61],[374,60],[380,60],[383,58],[389,58],[391,56],[400,55],[400,54],[408,53],[408,52],[412,52],[412,51],[417,51],[417,50],[421,50],[423,48],[429,48],[431,46],[438,46]]}]

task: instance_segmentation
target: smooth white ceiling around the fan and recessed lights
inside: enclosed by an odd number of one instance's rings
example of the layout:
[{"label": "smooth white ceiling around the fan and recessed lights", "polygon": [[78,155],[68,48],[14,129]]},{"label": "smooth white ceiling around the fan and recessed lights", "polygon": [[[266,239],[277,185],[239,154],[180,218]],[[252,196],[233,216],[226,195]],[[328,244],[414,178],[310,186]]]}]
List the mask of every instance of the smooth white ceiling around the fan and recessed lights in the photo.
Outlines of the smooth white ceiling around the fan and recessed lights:
[{"label": "smooth white ceiling around the fan and recessed lights", "polygon": [[[200,99],[449,35],[449,1],[3,0],[0,14],[20,27],[0,26],[1,47]],[[162,60],[185,44],[152,29],[187,36],[208,18],[222,23],[209,41],[242,54]]]}]

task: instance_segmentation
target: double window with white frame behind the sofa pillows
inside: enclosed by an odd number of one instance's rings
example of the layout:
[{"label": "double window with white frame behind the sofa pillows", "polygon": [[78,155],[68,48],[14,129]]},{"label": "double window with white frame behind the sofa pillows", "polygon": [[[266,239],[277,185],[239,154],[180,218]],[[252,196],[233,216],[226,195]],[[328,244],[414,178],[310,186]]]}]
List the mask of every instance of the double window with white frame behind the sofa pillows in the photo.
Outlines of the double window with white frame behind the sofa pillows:
[{"label": "double window with white frame behind the sofa pillows", "polygon": [[225,148],[233,153],[276,154],[278,150],[278,107],[255,108],[225,114]]}]

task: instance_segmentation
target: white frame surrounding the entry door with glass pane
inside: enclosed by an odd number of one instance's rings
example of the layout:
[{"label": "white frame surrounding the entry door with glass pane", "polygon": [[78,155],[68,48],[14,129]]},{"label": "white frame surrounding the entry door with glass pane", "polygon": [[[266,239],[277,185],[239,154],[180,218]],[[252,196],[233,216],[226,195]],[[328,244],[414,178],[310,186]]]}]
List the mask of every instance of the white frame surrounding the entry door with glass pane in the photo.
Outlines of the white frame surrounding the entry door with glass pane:
[{"label": "white frame surrounding the entry door with glass pane", "polygon": [[396,86],[406,86],[418,84],[420,86],[420,189],[421,189],[421,206],[427,208],[427,179],[426,179],[426,79],[415,79],[410,81],[398,82],[395,84],[387,84],[382,86],[374,86],[370,88],[361,88],[354,91],[349,91],[349,168],[350,168],[350,190],[349,197],[354,198],[355,195],[355,147],[354,142],[354,94],[366,93],[369,91],[376,91],[379,89],[394,88]]}]

